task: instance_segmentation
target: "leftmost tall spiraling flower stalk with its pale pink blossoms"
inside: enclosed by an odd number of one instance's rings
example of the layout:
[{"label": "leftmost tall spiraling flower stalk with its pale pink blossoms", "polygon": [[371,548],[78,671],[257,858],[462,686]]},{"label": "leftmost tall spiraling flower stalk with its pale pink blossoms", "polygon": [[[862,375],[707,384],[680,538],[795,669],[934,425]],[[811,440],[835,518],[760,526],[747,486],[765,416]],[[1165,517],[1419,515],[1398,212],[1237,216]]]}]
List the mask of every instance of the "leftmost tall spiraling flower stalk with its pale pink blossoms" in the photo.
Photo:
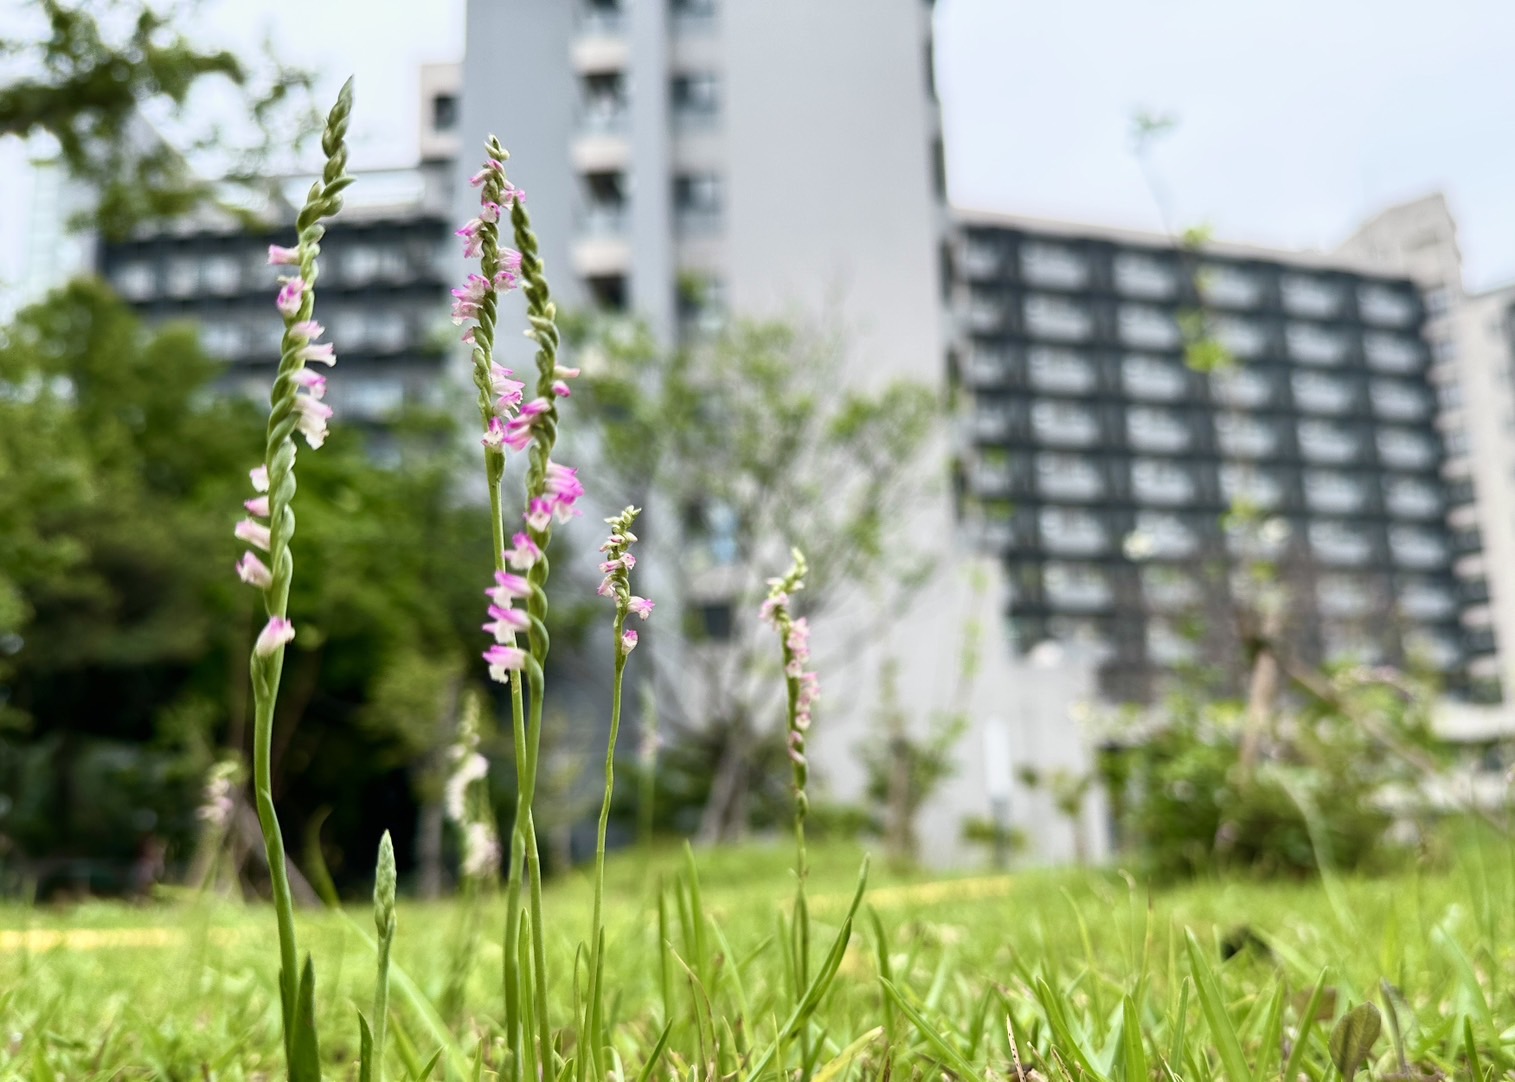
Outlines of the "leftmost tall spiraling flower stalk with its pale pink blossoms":
[{"label": "leftmost tall spiraling flower stalk with its pale pink blossoms", "polygon": [[[326,380],[306,368],[308,361],[332,364],[330,346],[314,342],[321,335],[315,323],[317,256],[321,238],[326,235],[323,218],[336,214],[342,206],[342,189],[353,182],[347,174],[347,124],[353,108],[351,79],[342,86],[336,105],[326,118],[321,135],[321,150],[326,167],[321,177],[311,185],[305,206],[295,218],[297,244],[292,249],[271,247],[268,262],[292,265],[297,273],[285,277],[276,299],[276,308],[283,317],[285,332],[270,394],[268,433],[264,449],[264,464],[253,470],[253,486],[258,493],[247,502],[250,518],[236,527],[236,536],[264,549],[268,553],[265,565],[255,553],[247,552],[238,564],[244,582],[258,586],[264,594],[268,623],[253,646],[253,791],[258,803],[258,823],[264,833],[268,856],[268,873],[273,879],[274,914],[279,924],[279,987],[283,999],[285,1053],[289,1058],[292,1077],[311,1077],[314,1067],[315,1035],[297,1034],[303,979],[298,971],[298,952],[294,933],[294,899],[289,893],[289,874],[285,865],[283,835],[273,799],[273,723],[274,703],[279,699],[279,677],[283,671],[285,644],[294,638],[294,624],[288,618],[289,585],[294,580],[294,556],[289,543],[294,538],[295,476],[294,433],[305,435],[315,449],[326,439],[326,420],[332,411],[321,402]],[[262,524],[258,518],[267,518]]]}]

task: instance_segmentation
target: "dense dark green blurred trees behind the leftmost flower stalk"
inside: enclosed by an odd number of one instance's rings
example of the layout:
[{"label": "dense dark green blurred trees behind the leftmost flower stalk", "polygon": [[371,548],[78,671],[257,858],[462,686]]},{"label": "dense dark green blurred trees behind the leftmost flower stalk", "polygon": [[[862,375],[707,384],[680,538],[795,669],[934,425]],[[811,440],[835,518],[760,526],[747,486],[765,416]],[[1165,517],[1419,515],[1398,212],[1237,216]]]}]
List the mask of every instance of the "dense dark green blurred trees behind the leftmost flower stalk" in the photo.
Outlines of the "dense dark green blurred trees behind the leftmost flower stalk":
[{"label": "dense dark green blurred trees behind the leftmost flower stalk", "polygon": [[[218,746],[245,747],[262,612],[232,526],[264,408],[217,392],[218,371],[191,327],[147,330],[97,282],[0,329],[0,861],[120,856],[148,832],[182,859],[185,800]],[[341,809],[338,868],[345,844],[371,852],[374,799],[414,811],[405,771],[445,733],[489,570],[451,426],[412,417],[385,439],[389,465],[338,427],[301,455],[295,500],[277,785],[295,820]],[[167,780],[97,785],[102,770]]]}]

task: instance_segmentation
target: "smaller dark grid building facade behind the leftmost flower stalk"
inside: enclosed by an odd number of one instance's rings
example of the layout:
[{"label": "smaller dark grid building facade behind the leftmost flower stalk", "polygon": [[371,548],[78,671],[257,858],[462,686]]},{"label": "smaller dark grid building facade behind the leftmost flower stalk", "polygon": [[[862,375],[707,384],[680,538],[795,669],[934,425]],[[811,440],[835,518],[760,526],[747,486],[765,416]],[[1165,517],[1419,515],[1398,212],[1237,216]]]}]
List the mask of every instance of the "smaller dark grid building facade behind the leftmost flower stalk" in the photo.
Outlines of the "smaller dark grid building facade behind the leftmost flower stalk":
[{"label": "smaller dark grid building facade behind the leftmost flower stalk", "polygon": [[[336,346],[327,402],[344,423],[382,424],[405,405],[433,402],[456,335],[447,321],[454,244],[445,192],[427,171],[373,177],[365,188],[395,199],[350,205],[327,224],[320,256],[318,318]],[[351,200],[350,200],[351,203]],[[242,229],[183,224],[102,241],[98,271],[150,323],[189,320],[208,353],[226,361],[220,385],[267,397],[283,323],[274,311],[279,273],[268,245],[294,244],[291,224]]]}]

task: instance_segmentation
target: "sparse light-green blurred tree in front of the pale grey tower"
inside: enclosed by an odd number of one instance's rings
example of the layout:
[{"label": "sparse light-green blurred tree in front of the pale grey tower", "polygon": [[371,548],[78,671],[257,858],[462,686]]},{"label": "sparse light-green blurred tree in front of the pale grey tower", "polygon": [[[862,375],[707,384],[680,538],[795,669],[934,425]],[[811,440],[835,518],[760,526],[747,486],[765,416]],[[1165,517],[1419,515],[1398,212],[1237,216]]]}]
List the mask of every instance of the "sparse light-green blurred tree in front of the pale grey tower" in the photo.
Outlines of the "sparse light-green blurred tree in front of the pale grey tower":
[{"label": "sparse light-green blurred tree in front of the pale grey tower", "polygon": [[[659,624],[670,646],[650,655],[670,733],[659,815],[692,826],[698,809],[708,843],[783,821],[789,767],[770,724],[782,717],[779,650],[758,620],[765,579],[800,544],[801,615],[864,591],[886,608],[918,586],[926,567],[904,523],[933,480],[915,467],[939,403],[911,380],[850,385],[844,365],[865,362],[838,335],[786,323],[736,320],[673,350],[624,320],[568,333],[585,367],[576,412],[595,433],[586,474],[609,505],[645,506],[644,535],[679,559],[670,579],[648,579],[683,617]],[[845,662],[850,644],[818,646],[835,673],[827,649]]]}]

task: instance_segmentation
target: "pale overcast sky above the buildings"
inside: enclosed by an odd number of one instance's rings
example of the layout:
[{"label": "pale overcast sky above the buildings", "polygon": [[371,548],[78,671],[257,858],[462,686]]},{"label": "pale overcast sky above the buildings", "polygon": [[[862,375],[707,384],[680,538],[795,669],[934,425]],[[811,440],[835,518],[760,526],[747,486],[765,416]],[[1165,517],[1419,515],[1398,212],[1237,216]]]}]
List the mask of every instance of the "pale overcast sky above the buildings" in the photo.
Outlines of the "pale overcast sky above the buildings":
[{"label": "pale overcast sky above the buildings", "polygon": [[[462,0],[208,0],[195,26],[244,47],[267,32],[323,71],[323,100],[356,74],[356,165],[414,156],[415,70],[464,36]],[[1470,285],[1515,279],[1509,0],[938,0],[936,30],[957,205],[1159,227],[1130,150],[1145,109],[1179,121],[1151,155],[1176,226],[1330,247],[1444,191]],[[0,200],[0,249],[21,214]]]}]

